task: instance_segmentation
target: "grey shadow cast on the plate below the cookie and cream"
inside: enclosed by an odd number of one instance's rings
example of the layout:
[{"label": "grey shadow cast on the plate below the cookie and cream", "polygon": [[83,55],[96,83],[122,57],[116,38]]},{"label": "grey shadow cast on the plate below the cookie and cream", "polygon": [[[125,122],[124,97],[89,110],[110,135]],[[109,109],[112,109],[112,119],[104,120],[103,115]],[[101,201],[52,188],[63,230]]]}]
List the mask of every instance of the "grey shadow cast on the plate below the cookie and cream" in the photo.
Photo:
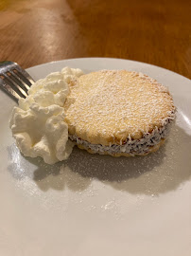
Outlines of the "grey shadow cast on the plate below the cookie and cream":
[{"label": "grey shadow cast on the plate below the cookie and cream", "polygon": [[91,155],[75,147],[69,159],[50,166],[40,158],[20,155],[13,145],[9,147],[9,172],[16,179],[29,177],[44,192],[66,187],[80,192],[87,190],[93,180],[99,180],[123,192],[159,194],[177,189],[190,178],[190,151],[191,137],[175,125],[165,145],[146,156],[113,158]]}]

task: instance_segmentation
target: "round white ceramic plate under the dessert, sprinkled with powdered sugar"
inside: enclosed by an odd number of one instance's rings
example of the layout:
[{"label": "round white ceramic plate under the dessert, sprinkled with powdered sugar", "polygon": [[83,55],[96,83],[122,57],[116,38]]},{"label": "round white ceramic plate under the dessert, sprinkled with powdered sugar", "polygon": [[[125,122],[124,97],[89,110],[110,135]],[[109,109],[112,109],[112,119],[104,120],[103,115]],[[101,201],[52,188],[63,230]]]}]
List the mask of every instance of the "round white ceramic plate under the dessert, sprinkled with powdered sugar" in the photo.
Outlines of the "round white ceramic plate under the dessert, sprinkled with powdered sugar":
[{"label": "round white ceramic plate under the dessert, sprinkled with powdered sugar", "polygon": [[191,84],[150,64],[73,59],[27,71],[37,80],[63,66],[141,71],[169,87],[178,108],[165,146],[144,157],[75,149],[48,166],[15,146],[15,103],[0,92],[0,255],[168,255],[191,253]]}]

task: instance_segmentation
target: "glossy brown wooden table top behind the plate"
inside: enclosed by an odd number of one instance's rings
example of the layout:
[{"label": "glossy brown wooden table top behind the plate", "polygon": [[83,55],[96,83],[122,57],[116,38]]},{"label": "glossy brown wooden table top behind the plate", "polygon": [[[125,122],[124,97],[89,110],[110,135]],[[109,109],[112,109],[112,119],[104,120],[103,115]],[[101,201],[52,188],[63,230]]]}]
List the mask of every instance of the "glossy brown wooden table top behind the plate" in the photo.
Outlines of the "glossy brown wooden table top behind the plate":
[{"label": "glossy brown wooden table top behind the plate", "polygon": [[1,0],[0,60],[115,57],[191,78],[190,16],[186,0]]}]

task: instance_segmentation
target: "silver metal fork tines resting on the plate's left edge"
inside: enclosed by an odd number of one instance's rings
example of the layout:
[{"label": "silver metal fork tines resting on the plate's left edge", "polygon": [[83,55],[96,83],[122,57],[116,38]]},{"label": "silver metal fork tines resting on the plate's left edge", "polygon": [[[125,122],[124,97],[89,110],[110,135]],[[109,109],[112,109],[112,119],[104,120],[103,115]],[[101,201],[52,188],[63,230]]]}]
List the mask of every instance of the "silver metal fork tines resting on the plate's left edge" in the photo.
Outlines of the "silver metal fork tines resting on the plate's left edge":
[{"label": "silver metal fork tines resting on the plate's left edge", "polygon": [[34,80],[19,64],[0,63],[0,88],[3,88],[14,100],[27,97],[27,91]]}]

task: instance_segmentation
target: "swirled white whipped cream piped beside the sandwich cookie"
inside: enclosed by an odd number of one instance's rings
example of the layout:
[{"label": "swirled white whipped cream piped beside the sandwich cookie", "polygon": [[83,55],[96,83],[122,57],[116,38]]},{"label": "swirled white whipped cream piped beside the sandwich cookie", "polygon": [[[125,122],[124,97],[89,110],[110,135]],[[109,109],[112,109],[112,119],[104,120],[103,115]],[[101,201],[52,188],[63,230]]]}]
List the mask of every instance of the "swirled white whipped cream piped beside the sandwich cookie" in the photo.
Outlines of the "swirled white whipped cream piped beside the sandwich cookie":
[{"label": "swirled white whipped cream piped beside the sandwich cookie", "polygon": [[72,153],[74,144],[68,140],[63,104],[69,94],[69,82],[82,74],[80,69],[69,67],[51,73],[35,82],[26,99],[14,107],[9,127],[24,155],[41,156],[45,163],[54,164]]}]

